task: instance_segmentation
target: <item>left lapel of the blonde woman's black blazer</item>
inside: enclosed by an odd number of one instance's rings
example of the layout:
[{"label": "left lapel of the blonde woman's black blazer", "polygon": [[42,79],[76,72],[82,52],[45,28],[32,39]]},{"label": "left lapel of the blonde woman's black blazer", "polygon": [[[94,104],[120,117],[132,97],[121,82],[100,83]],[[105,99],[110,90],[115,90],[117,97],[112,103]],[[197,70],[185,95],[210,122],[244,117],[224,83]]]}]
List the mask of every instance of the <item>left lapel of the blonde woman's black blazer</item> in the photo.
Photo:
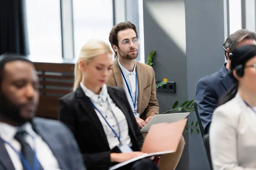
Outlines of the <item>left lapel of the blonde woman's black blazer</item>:
[{"label": "left lapel of the blonde woman's black blazer", "polygon": [[76,97],[77,97],[78,102],[84,109],[85,113],[87,113],[87,115],[90,117],[90,119],[92,119],[92,121],[94,122],[94,125],[97,127],[100,136],[102,136],[103,141],[109,147],[108,139],[106,137],[102,123],[100,122],[99,117],[97,116],[97,113],[95,112],[93,105],[90,102],[89,97],[87,97],[84,94],[84,91],[82,90],[80,85],[79,85],[79,88],[77,88],[77,90],[76,90]]}]

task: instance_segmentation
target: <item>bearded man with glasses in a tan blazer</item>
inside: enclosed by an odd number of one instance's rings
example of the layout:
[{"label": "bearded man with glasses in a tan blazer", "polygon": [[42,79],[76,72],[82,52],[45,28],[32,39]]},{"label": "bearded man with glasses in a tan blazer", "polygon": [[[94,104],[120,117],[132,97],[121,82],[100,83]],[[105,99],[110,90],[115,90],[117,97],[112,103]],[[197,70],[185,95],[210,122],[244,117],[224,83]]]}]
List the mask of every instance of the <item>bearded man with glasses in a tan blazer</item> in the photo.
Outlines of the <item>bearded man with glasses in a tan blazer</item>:
[{"label": "bearded man with glasses in a tan blazer", "polygon": [[[106,85],[125,89],[137,124],[143,128],[154,115],[159,114],[154,70],[135,60],[138,57],[140,39],[136,26],[131,22],[116,24],[110,31],[109,42],[117,57],[113,61],[113,72]],[[184,144],[182,137],[175,153],[161,156],[158,163],[160,170],[175,169]]]}]

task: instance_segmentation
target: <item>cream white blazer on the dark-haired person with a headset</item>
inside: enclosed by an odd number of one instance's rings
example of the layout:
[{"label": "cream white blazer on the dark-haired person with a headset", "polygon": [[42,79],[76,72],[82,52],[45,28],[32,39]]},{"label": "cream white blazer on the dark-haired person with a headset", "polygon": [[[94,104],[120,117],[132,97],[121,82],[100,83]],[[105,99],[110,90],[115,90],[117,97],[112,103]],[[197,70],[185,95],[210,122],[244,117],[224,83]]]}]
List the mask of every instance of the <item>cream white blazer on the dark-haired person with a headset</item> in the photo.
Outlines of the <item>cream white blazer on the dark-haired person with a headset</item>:
[{"label": "cream white blazer on the dark-haired person with a headset", "polygon": [[256,113],[241,96],[216,108],[209,130],[214,170],[256,170]]}]

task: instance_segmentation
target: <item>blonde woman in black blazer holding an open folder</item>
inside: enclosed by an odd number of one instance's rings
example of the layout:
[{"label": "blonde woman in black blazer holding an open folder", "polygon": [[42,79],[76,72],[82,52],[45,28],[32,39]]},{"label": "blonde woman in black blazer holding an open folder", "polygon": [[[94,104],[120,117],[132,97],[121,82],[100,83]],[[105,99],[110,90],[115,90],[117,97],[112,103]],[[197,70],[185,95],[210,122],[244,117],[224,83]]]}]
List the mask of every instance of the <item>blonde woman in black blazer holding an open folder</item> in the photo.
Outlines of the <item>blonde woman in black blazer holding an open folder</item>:
[{"label": "blonde woman in black blazer holding an open folder", "polygon": [[[90,40],[81,49],[75,66],[74,91],[59,101],[59,119],[73,132],[88,170],[110,166],[143,155],[143,136],[125,91],[107,87],[112,71],[111,48]],[[122,170],[157,170],[150,159],[121,167]]]}]

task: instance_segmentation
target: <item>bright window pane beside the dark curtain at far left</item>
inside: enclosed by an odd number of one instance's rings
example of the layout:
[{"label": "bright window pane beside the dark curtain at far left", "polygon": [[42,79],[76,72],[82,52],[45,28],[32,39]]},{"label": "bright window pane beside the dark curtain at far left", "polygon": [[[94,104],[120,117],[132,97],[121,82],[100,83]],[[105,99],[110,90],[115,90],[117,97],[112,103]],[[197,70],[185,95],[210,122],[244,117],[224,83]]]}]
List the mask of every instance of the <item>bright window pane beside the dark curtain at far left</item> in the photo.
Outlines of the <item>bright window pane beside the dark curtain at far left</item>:
[{"label": "bright window pane beside the dark curtain at far left", "polygon": [[61,59],[60,0],[26,0],[30,56]]}]

